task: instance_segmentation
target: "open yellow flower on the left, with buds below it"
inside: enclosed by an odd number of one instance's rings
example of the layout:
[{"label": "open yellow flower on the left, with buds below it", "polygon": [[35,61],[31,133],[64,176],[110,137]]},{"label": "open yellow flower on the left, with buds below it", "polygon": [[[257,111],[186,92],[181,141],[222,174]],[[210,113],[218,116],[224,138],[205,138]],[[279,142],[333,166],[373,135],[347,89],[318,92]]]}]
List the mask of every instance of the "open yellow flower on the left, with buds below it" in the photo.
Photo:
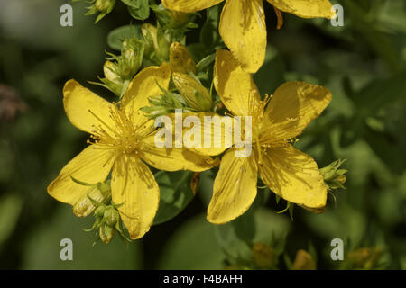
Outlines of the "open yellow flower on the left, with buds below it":
[{"label": "open yellow flower on the left, with buds below it", "polygon": [[[210,157],[180,148],[157,148],[153,121],[140,110],[148,97],[167,89],[171,67],[143,69],[129,85],[122,103],[109,103],[74,80],[63,89],[63,103],[69,121],[79,130],[91,134],[92,141],[60,171],[48,186],[48,193],[60,202],[74,206],[77,216],[94,210],[88,201],[86,183],[104,182],[111,172],[111,196],[119,208],[130,238],[141,238],[150,229],[160,201],[160,189],[144,162],[157,169],[203,171],[217,162]],[[92,191],[92,198],[104,195]]]}]

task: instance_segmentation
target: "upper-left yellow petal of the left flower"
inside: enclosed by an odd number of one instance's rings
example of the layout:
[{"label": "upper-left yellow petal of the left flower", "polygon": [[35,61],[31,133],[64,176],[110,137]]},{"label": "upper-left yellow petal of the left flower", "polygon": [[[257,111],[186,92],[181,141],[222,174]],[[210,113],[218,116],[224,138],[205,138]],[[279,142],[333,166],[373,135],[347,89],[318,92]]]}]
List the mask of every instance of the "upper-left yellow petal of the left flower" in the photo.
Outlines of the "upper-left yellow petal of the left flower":
[{"label": "upper-left yellow petal of the left flower", "polygon": [[63,88],[63,105],[69,121],[80,130],[91,133],[94,125],[103,122],[110,127],[115,125],[109,117],[111,103],[75,80],[69,80]]}]

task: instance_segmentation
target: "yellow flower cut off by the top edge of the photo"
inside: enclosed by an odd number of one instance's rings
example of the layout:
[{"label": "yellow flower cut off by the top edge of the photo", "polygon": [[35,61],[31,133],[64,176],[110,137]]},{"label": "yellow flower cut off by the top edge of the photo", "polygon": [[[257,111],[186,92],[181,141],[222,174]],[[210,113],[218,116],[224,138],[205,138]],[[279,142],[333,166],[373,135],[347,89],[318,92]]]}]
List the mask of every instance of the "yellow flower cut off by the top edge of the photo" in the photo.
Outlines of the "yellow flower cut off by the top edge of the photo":
[{"label": "yellow flower cut off by the top edge of the photo", "polygon": [[[223,0],[162,0],[170,10],[196,12]],[[331,18],[328,0],[267,0],[275,10],[302,18]],[[221,14],[220,35],[246,72],[255,73],[263,65],[266,50],[266,25],[263,0],[226,0]]]}]

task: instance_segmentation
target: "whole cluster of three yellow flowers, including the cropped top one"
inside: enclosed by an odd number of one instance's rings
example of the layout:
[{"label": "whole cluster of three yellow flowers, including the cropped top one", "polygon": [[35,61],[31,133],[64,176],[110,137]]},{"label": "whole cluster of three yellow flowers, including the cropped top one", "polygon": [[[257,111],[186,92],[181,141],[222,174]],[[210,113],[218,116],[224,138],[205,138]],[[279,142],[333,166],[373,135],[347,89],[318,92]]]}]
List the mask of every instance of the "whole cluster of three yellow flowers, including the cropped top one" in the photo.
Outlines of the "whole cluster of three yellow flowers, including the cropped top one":
[{"label": "whole cluster of three yellow flowers, including the cropped top one", "polygon": [[[162,1],[169,10],[182,13],[220,2]],[[281,12],[303,18],[330,18],[333,14],[328,0],[268,2],[279,17]],[[88,216],[97,202],[111,198],[132,239],[142,238],[150,229],[160,202],[160,187],[146,164],[165,171],[195,172],[219,165],[208,205],[208,221],[215,224],[234,220],[247,211],[257,194],[258,175],[281,198],[309,210],[322,210],[327,188],[318,165],[293,148],[290,140],[323,112],[331,94],[318,85],[289,82],[261,100],[251,73],[262,66],[265,57],[263,0],[226,0],[219,33],[230,51],[217,50],[214,86],[232,115],[253,119],[253,153],[249,157],[235,157],[239,149],[235,146],[188,149],[155,145],[159,130],[142,108],[150,105],[151,97],[168,90],[171,81],[181,94],[188,94],[188,87],[196,84],[189,76],[195,66],[193,59],[180,43],[173,43],[171,63],[146,67],[136,74],[118,103],[107,102],[75,80],[66,83],[65,111],[74,126],[91,135],[90,145],[63,167],[48,193],[72,205],[78,217]],[[221,161],[218,155],[223,155]],[[111,181],[110,188],[99,189],[97,184],[106,181]]]}]

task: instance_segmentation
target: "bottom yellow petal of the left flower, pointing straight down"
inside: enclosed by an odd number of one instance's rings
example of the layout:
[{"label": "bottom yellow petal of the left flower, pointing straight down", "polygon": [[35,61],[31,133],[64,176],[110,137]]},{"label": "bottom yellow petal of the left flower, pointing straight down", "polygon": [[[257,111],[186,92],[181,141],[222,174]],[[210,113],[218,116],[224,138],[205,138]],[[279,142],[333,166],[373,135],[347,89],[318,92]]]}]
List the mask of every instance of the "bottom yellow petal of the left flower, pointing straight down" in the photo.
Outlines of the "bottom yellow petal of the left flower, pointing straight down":
[{"label": "bottom yellow petal of the left flower, pointing straight down", "polygon": [[148,166],[137,157],[119,157],[113,167],[111,193],[115,204],[123,203],[118,211],[130,238],[142,238],[160,202],[160,188]]}]

